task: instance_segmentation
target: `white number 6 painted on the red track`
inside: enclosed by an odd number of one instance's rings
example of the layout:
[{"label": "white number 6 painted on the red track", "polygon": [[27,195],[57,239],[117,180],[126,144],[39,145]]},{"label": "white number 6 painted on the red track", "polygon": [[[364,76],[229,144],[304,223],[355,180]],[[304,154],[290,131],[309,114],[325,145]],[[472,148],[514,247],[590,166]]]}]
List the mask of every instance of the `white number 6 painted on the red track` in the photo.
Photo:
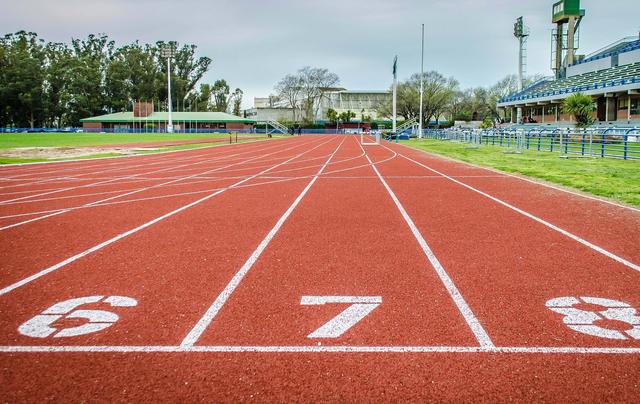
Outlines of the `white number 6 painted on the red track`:
[{"label": "white number 6 painted on the red track", "polygon": [[[102,299],[104,299],[104,296],[87,296],[56,303],[43,311],[42,314],[38,314],[22,323],[18,327],[18,331],[22,335],[33,338],[47,338],[54,333],[53,338],[90,334],[111,327],[113,323],[118,321],[119,317],[117,314],[105,310],[76,310],[79,306],[100,301],[108,303],[112,307],[132,307],[138,304],[135,299],[124,296],[110,296],[104,300]],[[51,324],[63,317],[84,318],[87,322],[76,327],[63,328],[59,331],[51,326]]]}]

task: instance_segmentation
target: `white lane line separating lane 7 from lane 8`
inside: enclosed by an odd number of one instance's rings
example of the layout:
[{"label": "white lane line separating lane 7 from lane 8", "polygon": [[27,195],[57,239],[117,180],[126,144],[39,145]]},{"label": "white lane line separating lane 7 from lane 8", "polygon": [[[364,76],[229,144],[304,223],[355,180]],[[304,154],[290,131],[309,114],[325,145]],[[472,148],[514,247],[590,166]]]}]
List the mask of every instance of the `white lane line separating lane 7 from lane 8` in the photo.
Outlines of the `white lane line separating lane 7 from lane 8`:
[{"label": "white lane line separating lane 7 from lane 8", "polygon": [[460,310],[460,313],[462,314],[465,321],[467,322],[467,325],[473,332],[473,335],[478,340],[478,343],[480,344],[480,346],[493,347],[494,345],[493,345],[493,342],[491,341],[491,338],[489,337],[489,334],[487,334],[487,332],[482,327],[482,324],[480,324],[480,321],[478,320],[478,318],[475,316],[475,314],[473,314],[471,307],[469,307],[467,302],[464,300],[464,297],[462,297],[462,294],[460,293],[456,285],[453,283],[453,280],[451,279],[449,274],[447,274],[447,271],[445,271],[444,267],[442,266],[442,264],[440,263],[436,255],[433,253],[433,251],[427,244],[424,237],[422,237],[420,230],[418,230],[415,223],[413,222],[413,220],[411,219],[407,211],[404,209],[404,206],[402,206],[402,203],[400,203],[400,200],[398,199],[396,194],[393,192],[391,187],[389,187],[389,184],[387,184],[387,181],[384,180],[382,175],[380,175],[380,171],[378,171],[378,168],[375,166],[375,164],[373,164],[373,162],[371,161],[368,155],[366,156],[366,158],[371,164],[371,168],[373,168],[376,175],[380,179],[380,182],[382,182],[382,185],[387,190],[387,193],[389,194],[389,196],[391,196],[391,199],[393,200],[393,203],[395,203],[396,207],[400,211],[402,218],[404,219],[405,222],[407,222],[407,225],[409,226],[409,229],[411,230],[413,237],[415,237],[415,239],[418,241],[418,244],[422,248],[424,255],[427,257],[427,259],[431,263],[431,266],[433,266],[433,269],[435,269],[436,273],[438,274],[438,277],[444,284],[444,287],[447,289],[447,292],[449,292],[449,295],[451,296],[451,299],[453,299],[454,303],[458,307],[458,310]]}]

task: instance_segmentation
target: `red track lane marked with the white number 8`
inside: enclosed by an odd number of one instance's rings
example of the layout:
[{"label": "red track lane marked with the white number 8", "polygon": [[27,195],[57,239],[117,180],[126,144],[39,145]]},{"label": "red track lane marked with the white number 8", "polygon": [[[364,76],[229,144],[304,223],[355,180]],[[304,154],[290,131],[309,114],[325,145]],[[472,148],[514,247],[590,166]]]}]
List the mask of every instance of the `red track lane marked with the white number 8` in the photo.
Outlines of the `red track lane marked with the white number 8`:
[{"label": "red track lane marked with the white number 8", "polygon": [[[591,296],[640,307],[639,273],[450,179],[425,185],[392,178],[427,171],[406,159],[380,164],[379,170],[496,345],[640,346],[630,338],[573,331],[545,306],[553,298]],[[593,309],[587,306],[579,307]],[[624,325],[599,321],[604,327]]]}]

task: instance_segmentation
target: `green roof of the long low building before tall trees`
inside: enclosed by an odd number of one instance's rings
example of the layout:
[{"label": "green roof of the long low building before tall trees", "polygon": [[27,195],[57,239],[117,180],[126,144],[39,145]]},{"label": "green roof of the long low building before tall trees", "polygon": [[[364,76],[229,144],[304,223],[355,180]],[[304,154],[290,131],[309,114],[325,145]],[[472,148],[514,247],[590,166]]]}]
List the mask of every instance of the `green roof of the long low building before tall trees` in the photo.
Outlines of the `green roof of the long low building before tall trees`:
[{"label": "green roof of the long low building before tall trees", "polygon": [[[210,122],[210,123],[255,123],[252,119],[241,118],[225,112],[173,112],[173,121],[185,122]],[[166,122],[169,120],[168,112],[153,112],[147,117],[134,117],[133,112],[117,112],[81,119],[80,122]]]}]

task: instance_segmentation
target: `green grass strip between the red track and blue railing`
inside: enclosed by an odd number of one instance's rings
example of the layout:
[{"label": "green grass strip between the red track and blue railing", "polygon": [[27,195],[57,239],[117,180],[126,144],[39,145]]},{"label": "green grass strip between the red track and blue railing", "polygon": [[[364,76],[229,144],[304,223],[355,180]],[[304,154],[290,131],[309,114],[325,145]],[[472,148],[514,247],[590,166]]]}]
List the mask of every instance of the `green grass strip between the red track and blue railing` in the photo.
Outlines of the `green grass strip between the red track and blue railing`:
[{"label": "green grass strip between the red track and blue railing", "polygon": [[527,150],[507,154],[499,146],[470,148],[440,140],[409,140],[404,144],[468,163],[522,174],[597,196],[640,206],[640,161],[614,158],[559,158],[555,153]]}]

